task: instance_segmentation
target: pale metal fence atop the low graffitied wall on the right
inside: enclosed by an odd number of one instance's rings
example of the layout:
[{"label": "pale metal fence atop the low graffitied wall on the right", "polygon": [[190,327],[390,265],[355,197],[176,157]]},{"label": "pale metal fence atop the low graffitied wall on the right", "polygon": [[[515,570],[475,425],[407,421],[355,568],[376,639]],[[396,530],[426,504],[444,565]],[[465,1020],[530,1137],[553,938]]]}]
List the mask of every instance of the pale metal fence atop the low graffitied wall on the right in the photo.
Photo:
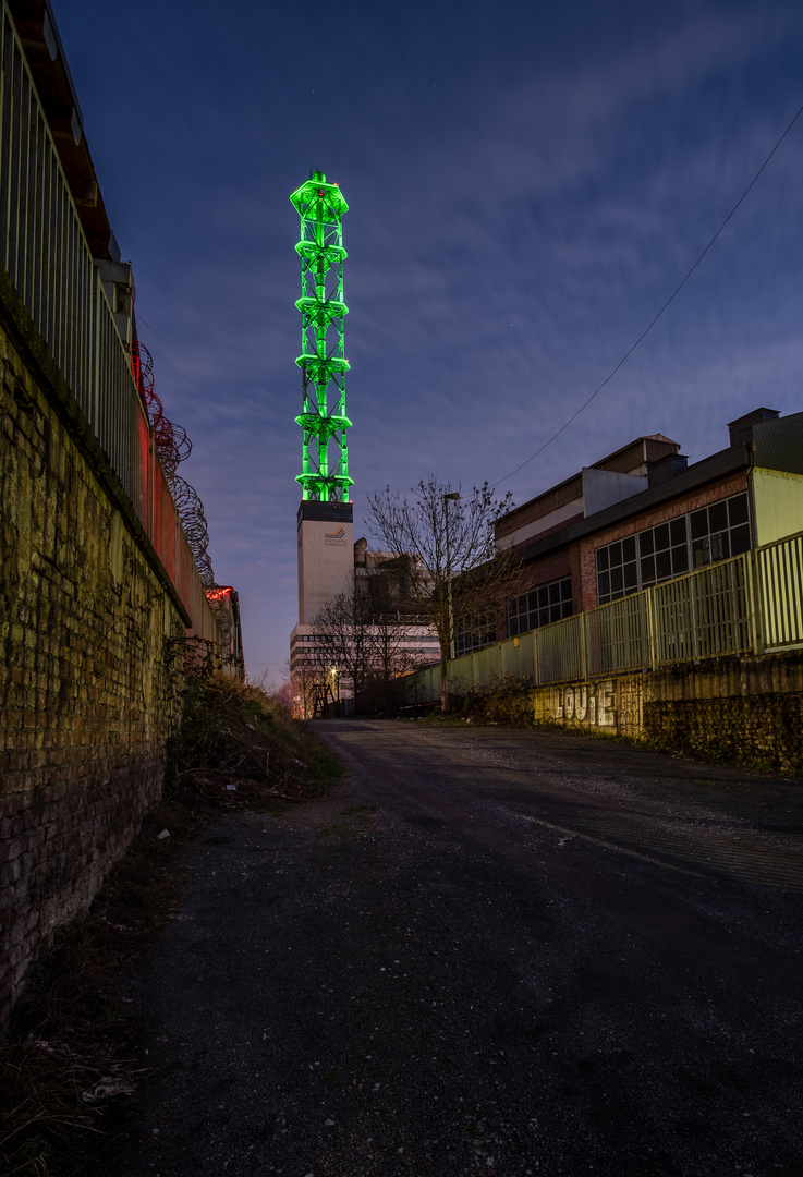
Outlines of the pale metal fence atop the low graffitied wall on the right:
[{"label": "pale metal fence atop the low graffitied wall on the right", "polygon": [[[452,693],[583,681],[672,663],[803,646],[803,532],[450,663]],[[429,676],[429,678],[427,678]],[[434,703],[432,672],[416,701]]]}]

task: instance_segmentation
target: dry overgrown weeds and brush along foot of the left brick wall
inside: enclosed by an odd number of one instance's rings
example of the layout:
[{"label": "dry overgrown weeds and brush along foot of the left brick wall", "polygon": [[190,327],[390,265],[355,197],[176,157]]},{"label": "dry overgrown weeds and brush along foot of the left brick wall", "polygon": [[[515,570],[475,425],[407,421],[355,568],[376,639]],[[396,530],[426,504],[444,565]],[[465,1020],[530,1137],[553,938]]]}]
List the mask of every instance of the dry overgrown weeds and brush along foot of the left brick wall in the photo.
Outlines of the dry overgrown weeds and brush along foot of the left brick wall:
[{"label": "dry overgrown weeds and brush along foot of the left brick wall", "polygon": [[118,978],[170,919],[188,882],[184,851],[204,824],[224,810],[278,811],[339,774],[278,699],[208,669],[188,677],[165,800],[89,911],[29,969],[0,1043],[0,1177],[78,1177],[87,1138],[147,1078]]}]

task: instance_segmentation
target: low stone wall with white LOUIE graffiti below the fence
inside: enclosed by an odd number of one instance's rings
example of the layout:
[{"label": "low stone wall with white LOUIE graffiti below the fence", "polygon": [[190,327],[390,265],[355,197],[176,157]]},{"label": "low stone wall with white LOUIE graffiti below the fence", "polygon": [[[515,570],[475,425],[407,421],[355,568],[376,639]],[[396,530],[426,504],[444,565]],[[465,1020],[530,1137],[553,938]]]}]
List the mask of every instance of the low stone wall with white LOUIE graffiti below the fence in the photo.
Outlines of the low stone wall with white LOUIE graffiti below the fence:
[{"label": "low stone wall with white LOUIE graffiti below the fence", "polygon": [[532,692],[536,723],[803,771],[803,651],[681,663]]}]

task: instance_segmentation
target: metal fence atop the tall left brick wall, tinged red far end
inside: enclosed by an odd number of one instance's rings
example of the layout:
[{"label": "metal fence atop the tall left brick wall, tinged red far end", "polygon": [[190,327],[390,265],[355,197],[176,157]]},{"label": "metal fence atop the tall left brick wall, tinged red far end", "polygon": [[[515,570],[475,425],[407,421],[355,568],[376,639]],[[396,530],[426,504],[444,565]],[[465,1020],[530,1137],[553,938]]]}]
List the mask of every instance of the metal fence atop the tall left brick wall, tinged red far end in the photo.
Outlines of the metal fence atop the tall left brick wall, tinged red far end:
[{"label": "metal fence atop the tall left brick wall, tinged red far end", "polygon": [[[217,623],[13,19],[0,2],[0,264],[159,554],[193,629]],[[208,616],[207,616],[208,614]]]}]

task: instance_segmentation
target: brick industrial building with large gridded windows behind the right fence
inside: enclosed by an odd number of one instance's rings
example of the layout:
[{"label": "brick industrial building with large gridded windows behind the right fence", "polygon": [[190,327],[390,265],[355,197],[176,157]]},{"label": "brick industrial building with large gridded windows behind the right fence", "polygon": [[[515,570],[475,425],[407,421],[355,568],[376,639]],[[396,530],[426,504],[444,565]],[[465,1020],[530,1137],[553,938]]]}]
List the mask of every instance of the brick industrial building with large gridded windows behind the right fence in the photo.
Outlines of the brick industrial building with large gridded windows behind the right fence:
[{"label": "brick industrial building with large gridded windows behind the right fence", "polygon": [[497,548],[525,584],[458,653],[482,649],[803,530],[803,413],[756,408],[729,445],[688,464],[653,433],[504,516]]}]

